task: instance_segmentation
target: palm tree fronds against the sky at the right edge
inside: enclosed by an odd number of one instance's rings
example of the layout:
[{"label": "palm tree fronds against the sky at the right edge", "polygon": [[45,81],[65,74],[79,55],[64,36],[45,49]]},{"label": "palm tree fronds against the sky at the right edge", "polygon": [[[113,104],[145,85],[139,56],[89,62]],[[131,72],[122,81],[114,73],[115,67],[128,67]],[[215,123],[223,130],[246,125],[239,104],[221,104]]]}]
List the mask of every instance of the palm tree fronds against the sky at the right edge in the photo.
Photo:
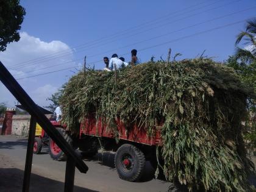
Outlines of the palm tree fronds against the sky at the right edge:
[{"label": "palm tree fronds against the sky at the right edge", "polygon": [[235,57],[245,63],[252,63],[256,60],[256,18],[248,20],[246,30],[240,32],[236,37],[235,45],[244,40],[247,49],[236,47]]}]

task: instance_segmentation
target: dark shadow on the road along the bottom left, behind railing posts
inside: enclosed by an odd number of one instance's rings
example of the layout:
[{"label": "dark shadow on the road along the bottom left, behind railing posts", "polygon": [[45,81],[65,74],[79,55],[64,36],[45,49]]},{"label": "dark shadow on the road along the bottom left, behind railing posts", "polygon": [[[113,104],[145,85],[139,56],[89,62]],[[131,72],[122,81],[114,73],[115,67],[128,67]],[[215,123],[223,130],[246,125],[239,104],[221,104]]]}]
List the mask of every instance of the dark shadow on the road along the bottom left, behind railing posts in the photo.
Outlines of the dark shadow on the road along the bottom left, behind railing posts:
[{"label": "dark shadow on the road along the bottom left, behind railing posts", "polygon": [[[0,191],[16,192],[22,190],[24,171],[16,168],[0,168]],[[64,182],[31,174],[29,191],[64,191]],[[74,186],[74,191],[97,192]]]}]

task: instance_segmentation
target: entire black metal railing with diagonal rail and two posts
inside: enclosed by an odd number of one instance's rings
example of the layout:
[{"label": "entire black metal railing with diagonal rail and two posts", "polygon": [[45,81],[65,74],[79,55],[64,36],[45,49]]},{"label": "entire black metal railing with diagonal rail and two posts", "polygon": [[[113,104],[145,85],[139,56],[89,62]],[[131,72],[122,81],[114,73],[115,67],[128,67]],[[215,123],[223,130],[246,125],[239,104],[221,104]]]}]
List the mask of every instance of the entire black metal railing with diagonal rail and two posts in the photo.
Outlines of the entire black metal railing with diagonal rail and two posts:
[{"label": "entire black metal railing with diagonal rail and two posts", "polygon": [[54,142],[59,146],[59,148],[62,149],[62,151],[67,155],[64,191],[73,191],[75,167],[77,167],[80,172],[86,173],[88,171],[88,166],[85,165],[85,163],[82,161],[79,155],[76,154],[73,148],[69,146],[62,135],[60,135],[58,130],[52,126],[49,119],[46,118],[46,116],[44,116],[44,114],[38,109],[35,102],[32,101],[26,91],[24,91],[20,84],[18,84],[12,74],[10,74],[7,68],[5,68],[5,66],[2,64],[2,62],[0,62],[0,80],[31,115],[23,179],[23,192],[29,191],[36,123],[43,127],[49,137],[51,137],[52,140],[54,140]]}]

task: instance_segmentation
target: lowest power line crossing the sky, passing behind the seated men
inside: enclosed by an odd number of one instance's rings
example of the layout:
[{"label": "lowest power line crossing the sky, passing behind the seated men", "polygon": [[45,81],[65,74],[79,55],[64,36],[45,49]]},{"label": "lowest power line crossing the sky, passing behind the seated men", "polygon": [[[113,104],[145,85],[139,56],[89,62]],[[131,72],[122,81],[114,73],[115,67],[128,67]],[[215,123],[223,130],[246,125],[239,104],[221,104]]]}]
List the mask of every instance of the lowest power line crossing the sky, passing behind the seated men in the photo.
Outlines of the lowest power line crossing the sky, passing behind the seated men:
[{"label": "lowest power line crossing the sky, passing behind the seated men", "polygon": [[[249,18],[251,19],[251,18]],[[246,19],[246,20],[249,20],[249,19]],[[246,20],[240,20],[240,21],[236,21],[236,22],[233,22],[233,23],[229,23],[229,24],[225,24],[225,25],[222,25],[222,26],[218,26],[218,27],[213,27],[212,29],[208,29],[208,30],[203,30],[202,32],[197,32],[195,34],[191,34],[191,35],[187,35],[187,36],[183,36],[183,37],[180,37],[180,38],[176,38],[174,40],[170,40],[170,41],[166,41],[164,43],[159,43],[159,44],[155,44],[153,46],[149,46],[147,48],[143,48],[143,49],[138,49],[138,51],[144,51],[146,49],[151,49],[151,48],[155,48],[155,47],[158,47],[158,46],[162,46],[164,44],[169,44],[169,43],[173,43],[175,41],[179,41],[179,40],[183,40],[185,38],[190,38],[190,37],[194,37],[194,36],[197,36],[197,35],[201,35],[201,34],[204,34],[204,33],[207,33],[207,32],[212,32],[213,30],[218,30],[218,29],[222,29],[222,28],[225,28],[225,27],[229,27],[229,26],[233,26],[235,24],[238,24],[238,23],[243,23],[244,21]],[[126,53],[128,54],[128,53]],[[99,62],[99,61],[98,61]],[[96,62],[91,62],[91,63],[96,63]],[[59,72],[59,71],[65,71],[67,69],[72,69],[72,68],[75,68],[76,66],[72,66],[72,67],[69,67],[69,68],[64,68],[64,69],[59,69],[57,71],[50,71],[48,73],[41,73],[41,74],[37,74],[37,75],[34,75],[34,76],[29,76],[29,77],[23,77],[23,78],[20,78],[20,79],[17,79],[17,80],[21,80],[21,79],[27,79],[27,78],[30,78],[30,77],[37,77],[37,76],[42,76],[42,75],[45,75],[45,74],[51,74],[51,73],[55,73],[55,72]]]}]

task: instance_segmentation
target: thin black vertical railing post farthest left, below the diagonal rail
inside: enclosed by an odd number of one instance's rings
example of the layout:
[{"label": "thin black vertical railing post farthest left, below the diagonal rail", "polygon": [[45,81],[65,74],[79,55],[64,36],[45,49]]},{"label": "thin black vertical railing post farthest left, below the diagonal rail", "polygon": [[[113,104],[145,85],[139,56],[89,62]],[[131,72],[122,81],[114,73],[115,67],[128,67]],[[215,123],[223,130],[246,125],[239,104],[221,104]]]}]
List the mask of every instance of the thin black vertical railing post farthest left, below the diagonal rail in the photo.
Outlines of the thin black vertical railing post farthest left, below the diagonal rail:
[{"label": "thin black vertical railing post farthest left, below the diagonal rail", "polygon": [[33,116],[31,116],[30,125],[29,125],[29,140],[27,142],[26,163],[25,163],[25,170],[24,170],[24,177],[23,177],[23,188],[22,188],[23,192],[29,192],[36,124],[37,124],[37,120]]}]

